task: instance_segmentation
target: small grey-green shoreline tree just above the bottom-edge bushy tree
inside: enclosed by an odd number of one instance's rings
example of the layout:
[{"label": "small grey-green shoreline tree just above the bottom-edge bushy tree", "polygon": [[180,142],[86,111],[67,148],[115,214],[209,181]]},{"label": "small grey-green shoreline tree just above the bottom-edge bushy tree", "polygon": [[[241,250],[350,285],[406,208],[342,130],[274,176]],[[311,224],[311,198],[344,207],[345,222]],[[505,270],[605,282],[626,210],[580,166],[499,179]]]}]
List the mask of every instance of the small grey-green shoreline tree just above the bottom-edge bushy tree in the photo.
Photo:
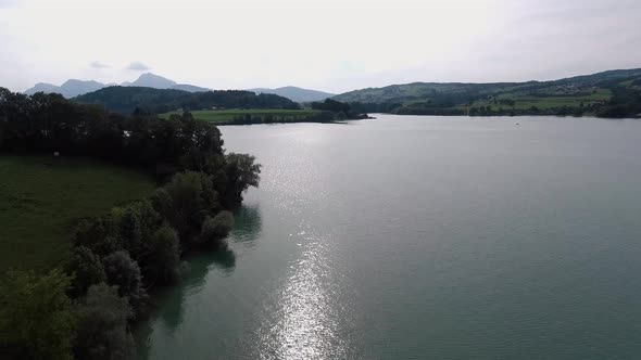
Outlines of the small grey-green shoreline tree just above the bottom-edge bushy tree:
[{"label": "small grey-green shoreline tree just above the bottom-edge bushy tree", "polygon": [[140,267],[129,257],[126,250],[115,252],[102,259],[106,280],[110,285],[118,287],[118,294],[129,298],[134,310],[141,310],[147,292],[142,287]]}]

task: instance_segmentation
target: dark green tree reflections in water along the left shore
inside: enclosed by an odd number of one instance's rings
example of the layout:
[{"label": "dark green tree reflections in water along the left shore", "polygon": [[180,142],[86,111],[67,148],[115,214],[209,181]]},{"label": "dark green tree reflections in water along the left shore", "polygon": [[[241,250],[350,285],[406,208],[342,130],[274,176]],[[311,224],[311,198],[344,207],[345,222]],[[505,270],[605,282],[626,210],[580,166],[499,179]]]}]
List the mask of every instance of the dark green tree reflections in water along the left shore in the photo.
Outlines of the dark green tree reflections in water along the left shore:
[{"label": "dark green tree reflections in water along the left shore", "polygon": [[[150,321],[140,324],[138,329],[139,342],[150,338],[153,329],[151,324],[159,318],[173,333],[183,323],[184,303],[186,294],[198,293],[206,283],[206,274],[212,269],[222,270],[224,275],[229,275],[236,267],[236,254],[232,248],[236,243],[249,244],[253,242],[261,232],[261,214],[257,206],[241,206],[234,214],[235,226],[230,236],[227,239],[229,246],[202,250],[185,256],[188,263],[187,271],[177,284],[160,290],[153,295],[159,306],[159,312]],[[140,358],[149,356],[151,344],[140,344]]]}]

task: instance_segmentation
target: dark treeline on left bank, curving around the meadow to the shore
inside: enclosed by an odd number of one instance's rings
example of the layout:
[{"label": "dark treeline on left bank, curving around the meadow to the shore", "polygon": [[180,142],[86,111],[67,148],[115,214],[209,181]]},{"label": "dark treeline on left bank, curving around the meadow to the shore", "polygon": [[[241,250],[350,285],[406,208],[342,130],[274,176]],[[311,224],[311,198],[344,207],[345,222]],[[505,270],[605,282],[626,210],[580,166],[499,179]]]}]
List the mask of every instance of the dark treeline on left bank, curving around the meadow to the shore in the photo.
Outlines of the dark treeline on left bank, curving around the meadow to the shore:
[{"label": "dark treeline on left bank, curving around the meadow to the shore", "polygon": [[2,88],[0,152],[93,156],[164,183],[149,198],[83,220],[63,269],[3,274],[0,358],[130,358],[129,324],[148,309],[149,288],[178,280],[183,253],[225,246],[230,210],[260,180],[253,156],[225,154],[218,129],[188,113],[126,117]]}]

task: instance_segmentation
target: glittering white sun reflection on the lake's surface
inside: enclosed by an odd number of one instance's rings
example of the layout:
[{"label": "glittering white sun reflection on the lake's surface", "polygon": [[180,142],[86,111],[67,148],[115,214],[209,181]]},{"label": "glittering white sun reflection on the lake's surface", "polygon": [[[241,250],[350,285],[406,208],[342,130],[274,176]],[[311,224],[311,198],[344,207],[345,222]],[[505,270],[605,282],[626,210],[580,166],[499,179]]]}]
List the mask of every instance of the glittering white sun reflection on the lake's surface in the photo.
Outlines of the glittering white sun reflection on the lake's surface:
[{"label": "glittering white sun reflection on the lake's surface", "polygon": [[306,237],[304,250],[284,281],[271,323],[261,329],[262,359],[345,359],[340,286],[328,239]]}]

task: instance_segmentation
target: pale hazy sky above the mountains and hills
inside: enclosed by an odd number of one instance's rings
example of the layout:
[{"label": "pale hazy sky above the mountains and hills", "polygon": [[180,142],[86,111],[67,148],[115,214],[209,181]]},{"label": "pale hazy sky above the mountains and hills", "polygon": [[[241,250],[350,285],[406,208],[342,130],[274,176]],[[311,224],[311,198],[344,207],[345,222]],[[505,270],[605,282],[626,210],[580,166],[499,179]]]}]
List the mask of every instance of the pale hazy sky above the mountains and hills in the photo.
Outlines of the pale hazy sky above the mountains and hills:
[{"label": "pale hazy sky above the mountains and hills", "polygon": [[641,0],[0,0],[0,86],[331,92],[641,67]]}]

